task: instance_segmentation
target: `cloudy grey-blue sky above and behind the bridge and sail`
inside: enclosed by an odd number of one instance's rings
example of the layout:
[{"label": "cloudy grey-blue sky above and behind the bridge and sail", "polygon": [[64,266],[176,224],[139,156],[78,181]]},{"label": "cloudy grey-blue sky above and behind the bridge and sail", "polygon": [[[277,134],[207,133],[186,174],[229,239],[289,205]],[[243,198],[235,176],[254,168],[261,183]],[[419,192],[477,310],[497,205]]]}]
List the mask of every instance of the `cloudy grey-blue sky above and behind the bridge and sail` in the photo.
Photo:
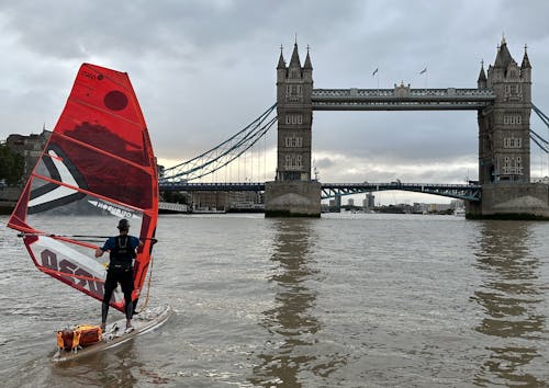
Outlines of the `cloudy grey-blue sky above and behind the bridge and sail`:
[{"label": "cloudy grey-blue sky above and behind the bridge and sail", "polygon": [[[504,36],[518,64],[527,45],[533,102],[549,115],[548,14],[547,0],[0,0],[0,140],[53,129],[79,66],[92,62],[130,75],[155,153],[165,167],[177,164],[276,102],[280,47],[289,62],[294,42],[302,62],[310,47],[316,89],[475,88],[481,61],[494,62]],[[313,116],[323,182],[478,176],[474,111]],[[530,126],[549,137],[534,113]],[[274,176],[276,126],[261,147],[251,181]],[[547,155],[531,150],[531,175],[549,175]],[[224,179],[246,179],[235,169]]]}]

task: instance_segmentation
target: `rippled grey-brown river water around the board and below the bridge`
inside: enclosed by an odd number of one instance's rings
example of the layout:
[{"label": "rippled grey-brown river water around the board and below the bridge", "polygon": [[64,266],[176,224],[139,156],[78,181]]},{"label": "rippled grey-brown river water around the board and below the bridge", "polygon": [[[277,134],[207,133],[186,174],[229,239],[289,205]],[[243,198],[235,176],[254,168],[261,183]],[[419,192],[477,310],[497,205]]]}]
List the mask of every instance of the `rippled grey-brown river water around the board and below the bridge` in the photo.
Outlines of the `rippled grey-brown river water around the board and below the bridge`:
[{"label": "rippled grey-brown river water around the board and below the bridge", "polygon": [[549,386],[548,222],[173,215],[157,237],[149,304],[170,320],[54,364],[54,332],[100,303],[0,228],[2,387]]}]

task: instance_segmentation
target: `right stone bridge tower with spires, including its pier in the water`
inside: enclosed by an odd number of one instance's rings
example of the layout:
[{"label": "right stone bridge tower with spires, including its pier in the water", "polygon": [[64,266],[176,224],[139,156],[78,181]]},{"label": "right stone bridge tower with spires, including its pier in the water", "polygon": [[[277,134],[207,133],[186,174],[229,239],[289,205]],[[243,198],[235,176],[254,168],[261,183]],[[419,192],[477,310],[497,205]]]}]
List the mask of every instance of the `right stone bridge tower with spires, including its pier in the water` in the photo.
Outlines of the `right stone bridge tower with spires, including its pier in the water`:
[{"label": "right stone bridge tower with spires, including its pier in the water", "polygon": [[470,218],[548,219],[549,186],[530,183],[531,66],[524,52],[520,66],[505,38],[494,65],[484,68],[479,89],[494,91],[494,102],[479,110],[480,202],[468,202]]}]

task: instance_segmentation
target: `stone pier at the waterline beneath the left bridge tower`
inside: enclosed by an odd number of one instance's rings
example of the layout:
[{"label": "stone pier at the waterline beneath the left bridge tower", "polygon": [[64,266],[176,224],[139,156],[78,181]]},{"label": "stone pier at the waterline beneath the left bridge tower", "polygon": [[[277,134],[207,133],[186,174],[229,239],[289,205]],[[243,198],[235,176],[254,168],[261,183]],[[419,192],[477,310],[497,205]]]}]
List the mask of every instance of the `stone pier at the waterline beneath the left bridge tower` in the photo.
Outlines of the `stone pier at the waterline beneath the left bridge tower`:
[{"label": "stone pier at the waterline beneath the left bridge tower", "polygon": [[317,181],[265,183],[266,217],[320,217],[322,185]]}]

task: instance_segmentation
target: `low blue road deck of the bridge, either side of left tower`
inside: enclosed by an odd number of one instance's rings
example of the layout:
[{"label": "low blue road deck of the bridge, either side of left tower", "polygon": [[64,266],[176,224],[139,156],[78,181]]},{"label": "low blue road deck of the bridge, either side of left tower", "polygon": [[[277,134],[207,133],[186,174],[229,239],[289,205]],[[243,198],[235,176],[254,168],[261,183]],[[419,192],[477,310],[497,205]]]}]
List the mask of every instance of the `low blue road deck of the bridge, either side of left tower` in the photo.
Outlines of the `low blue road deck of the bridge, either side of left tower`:
[{"label": "low blue road deck of the bridge, either side of left tower", "polygon": [[[191,183],[160,182],[160,191],[265,191],[265,183]],[[415,193],[441,195],[451,198],[480,201],[481,186],[478,184],[432,184],[432,183],[322,183],[322,198],[333,198],[336,195],[350,195],[367,192],[401,190]]]}]

